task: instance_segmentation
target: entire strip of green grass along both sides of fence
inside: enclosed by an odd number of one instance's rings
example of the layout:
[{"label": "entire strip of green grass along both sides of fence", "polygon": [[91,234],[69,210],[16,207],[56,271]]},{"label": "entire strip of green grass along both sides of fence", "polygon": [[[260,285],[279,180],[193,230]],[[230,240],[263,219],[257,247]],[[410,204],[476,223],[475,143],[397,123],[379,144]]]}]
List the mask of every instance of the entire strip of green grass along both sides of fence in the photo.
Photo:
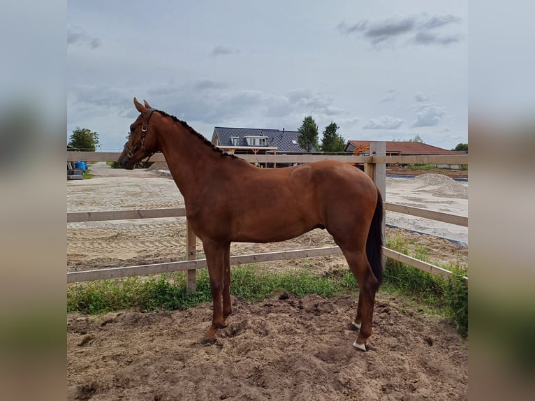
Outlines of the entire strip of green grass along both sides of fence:
[{"label": "entire strip of green grass along both sides of fence", "polygon": [[[388,247],[407,254],[401,238],[388,241]],[[427,251],[415,246],[414,255],[427,260]],[[462,266],[441,266],[453,271],[453,278],[444,279],[409,265],[387,260],[380,291],[402,296],[426,312],[448,316],[461,335],[468,333],[468,289]],[[348,269],[335,270],[318,276],[309,267],[291,272],[270,272],[257,265],[240,265],[231,270],[230,293],[241,300],[258,302],[286,291],[295,296],[315,293],[334,297],[355,296],[358,284]],[[101,314],[119,309],[142,312],[166,309],[185,309],[210,302],[210,280],[207,270],[198,270],[196,292],[186,287],[185,272],[126,279],[98,280],[71,284],[67,287],[67,312],[79,311]]]}]

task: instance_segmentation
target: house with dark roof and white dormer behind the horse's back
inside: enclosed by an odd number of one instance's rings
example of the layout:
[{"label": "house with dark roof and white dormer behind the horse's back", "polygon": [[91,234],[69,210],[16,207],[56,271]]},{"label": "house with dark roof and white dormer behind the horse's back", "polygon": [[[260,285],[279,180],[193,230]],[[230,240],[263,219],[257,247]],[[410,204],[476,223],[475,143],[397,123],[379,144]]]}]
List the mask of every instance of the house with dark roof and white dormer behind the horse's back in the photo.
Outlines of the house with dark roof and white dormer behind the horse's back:
[{"label": "house with dark roof and white dormer behind the horse's back", "polygon": [[[212,143],[230,154],[302,154],[298,131],[286,129],[228,128],[216,126]],[[318,152],[314,152],[318,153]],[[277,163],[277,166],[281,166]]]}]

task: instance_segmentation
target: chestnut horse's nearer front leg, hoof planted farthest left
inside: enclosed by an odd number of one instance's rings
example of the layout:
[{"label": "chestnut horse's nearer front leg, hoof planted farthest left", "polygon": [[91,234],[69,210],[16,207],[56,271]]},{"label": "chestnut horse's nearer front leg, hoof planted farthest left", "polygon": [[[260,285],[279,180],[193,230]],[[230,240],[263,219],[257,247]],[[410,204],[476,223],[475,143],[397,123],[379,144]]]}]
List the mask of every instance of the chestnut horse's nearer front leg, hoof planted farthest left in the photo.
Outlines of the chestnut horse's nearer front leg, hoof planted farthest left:
[{"label": "chestnut horse's nearer front leg, hoof planted farthest left", "polygon": [[[227,245],[219,242],[203,241],[203,248],[208,264],[208,274],[210,275],[210,290],[212,292],[212,302],[214,311],[212,315],[212,326],[205,333],[203,344],[213,344],[217,340],[217,329],[224,325],[223,317],[223,266]],[[230,299],[230,298],[229,298]]]}]

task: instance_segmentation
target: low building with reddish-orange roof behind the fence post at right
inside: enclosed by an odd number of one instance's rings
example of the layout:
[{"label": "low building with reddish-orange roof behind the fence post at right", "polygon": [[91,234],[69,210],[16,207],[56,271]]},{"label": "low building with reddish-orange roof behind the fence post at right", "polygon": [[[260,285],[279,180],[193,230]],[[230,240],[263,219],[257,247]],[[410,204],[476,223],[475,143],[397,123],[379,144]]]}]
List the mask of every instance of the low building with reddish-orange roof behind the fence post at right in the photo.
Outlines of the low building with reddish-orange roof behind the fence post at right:
[{"label": "low building with reddish-orange roof behind the fence post at right", "polygon": [[[369,154],[369,140],[349,140],[344,152],[351,152],[357,156]],[[455,156],[457,152],[442,149],[441,147],[427,145],[421,142],[408,142],[401,140],[386,141],[386,156]],[[442,168],[460,168],[458,165],[437,165]]]}]

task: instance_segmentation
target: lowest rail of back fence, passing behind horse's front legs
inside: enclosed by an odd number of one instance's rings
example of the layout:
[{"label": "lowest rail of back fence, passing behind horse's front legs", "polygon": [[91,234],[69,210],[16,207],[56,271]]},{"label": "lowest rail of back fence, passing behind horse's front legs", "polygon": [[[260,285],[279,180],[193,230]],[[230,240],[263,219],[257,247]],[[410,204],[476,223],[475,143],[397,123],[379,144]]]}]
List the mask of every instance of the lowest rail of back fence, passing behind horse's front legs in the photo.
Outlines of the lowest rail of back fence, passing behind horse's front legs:
[{"label": "lowest rail of back fence, passing behind horse's front legs", "polygon": [[[251,254],[230,256],[230,265],[243,265],[246,263],[259,263],[268,261],[282,261],[291,258],[312,258],[341,254],[339,247],[325,247],[314,249],[298,249],[294,251],[269,252],[266,254]],[[195,270],[206,268],[206,259],[196,261],[179,261],[156,263],[152,265],[129,266],[124,268],[109,268],[99,270],[86,270],[82,272],[68,272],[67,283],[89,282],[100,279],[117,279],[120,277],[154,275],[159,273],[176,272],[179,270]]]}]

